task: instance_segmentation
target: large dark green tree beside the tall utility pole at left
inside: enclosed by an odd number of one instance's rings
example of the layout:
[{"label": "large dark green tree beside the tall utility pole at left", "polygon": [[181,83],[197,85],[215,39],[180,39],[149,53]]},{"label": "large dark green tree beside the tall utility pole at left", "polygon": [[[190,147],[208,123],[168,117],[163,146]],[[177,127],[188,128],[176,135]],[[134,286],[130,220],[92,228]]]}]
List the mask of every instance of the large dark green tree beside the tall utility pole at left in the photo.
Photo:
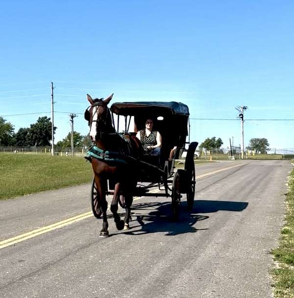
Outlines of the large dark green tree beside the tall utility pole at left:
[{"label": "large dark green tree beside the tall utility pole at left", "polygon": [[[52,124],[47,116],[39,117],[35,124],[30,125],[29,143],[31,146],[49,146],[52,140]],[[54,126],[53,131],[55,132]]]}]

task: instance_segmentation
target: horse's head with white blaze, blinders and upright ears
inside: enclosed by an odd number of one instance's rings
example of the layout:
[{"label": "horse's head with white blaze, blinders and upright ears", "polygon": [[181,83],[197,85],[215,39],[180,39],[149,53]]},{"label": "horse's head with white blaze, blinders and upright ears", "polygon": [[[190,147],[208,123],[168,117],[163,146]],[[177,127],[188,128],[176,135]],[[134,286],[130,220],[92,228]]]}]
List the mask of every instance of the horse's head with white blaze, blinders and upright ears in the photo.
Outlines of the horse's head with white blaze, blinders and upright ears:
[{"label": "horse's head with white blaze, blinders and upright ears", "polygon": [[90,126],[90,136],[93,142],[100,141],[103,133],[113,132],[114,128],[111,124],[111,115],[107,104],[112,99],[113,94],[106,99],[92,99],[87,94],[90,106],[85,111],[85,119]]}]

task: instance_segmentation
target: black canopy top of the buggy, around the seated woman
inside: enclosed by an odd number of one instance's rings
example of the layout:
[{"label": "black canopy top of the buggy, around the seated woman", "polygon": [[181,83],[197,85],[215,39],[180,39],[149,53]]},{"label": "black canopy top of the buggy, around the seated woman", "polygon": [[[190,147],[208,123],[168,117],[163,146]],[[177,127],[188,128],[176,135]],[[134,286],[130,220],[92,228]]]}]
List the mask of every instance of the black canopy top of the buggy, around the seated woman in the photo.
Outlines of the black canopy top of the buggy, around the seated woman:
[{"label": "black canopy top of the buggy, around the seated woman", "polygon": [[[185,147],[188,136],[189,108],[184,103],[175,101],[116,102],[111,105],[110,110],[120,116],[133,116],[135,133],[145,128],[147,119],[153,119],[153,129],[158,130],[162,135],[161,155],[165,158],[169,156],[174,146],[178,149]],[[157,120],[158,117],[163,117],[163,120]],[[126,131],[128,131],[127,126],[126,120]]]}]

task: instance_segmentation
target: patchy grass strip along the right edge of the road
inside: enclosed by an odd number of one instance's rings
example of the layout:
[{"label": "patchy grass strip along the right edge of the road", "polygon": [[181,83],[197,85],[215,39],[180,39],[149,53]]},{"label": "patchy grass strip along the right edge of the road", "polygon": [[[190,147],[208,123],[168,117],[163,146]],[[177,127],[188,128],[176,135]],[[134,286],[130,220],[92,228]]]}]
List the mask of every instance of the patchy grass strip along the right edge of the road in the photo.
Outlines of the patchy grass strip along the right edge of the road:
[{"label": "patchy grass strip along the right edge of the road", "polygon": [[279,247],[272,250],[277,264],[277,268],[271,270],[275,298],[294,298],[294,170],[289,178],[285,224],[281,230]]}]

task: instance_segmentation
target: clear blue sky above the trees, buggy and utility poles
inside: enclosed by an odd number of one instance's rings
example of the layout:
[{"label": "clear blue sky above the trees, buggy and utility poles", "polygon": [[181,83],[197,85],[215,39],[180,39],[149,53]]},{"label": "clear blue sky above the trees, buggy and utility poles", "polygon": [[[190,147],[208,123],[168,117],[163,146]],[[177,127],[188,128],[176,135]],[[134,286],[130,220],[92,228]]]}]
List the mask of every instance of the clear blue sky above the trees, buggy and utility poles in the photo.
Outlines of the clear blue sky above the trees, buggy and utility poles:
[{"label": "clear blue sky above the trees, buggy and utility poles", "polygon": [[[0,115],[29,127],[50,117],[55,141],[83,113],[86,94],[113,102],[181,101],[191,140],[241,143],[246,119],[294,119],[293,1],[1,1]],[[38,113],[23,116],[14,114]],[[82,114],[74,130],[88,133]],[[267,138],[294,148],[294,121],[245,122],[245,146]]]}]

